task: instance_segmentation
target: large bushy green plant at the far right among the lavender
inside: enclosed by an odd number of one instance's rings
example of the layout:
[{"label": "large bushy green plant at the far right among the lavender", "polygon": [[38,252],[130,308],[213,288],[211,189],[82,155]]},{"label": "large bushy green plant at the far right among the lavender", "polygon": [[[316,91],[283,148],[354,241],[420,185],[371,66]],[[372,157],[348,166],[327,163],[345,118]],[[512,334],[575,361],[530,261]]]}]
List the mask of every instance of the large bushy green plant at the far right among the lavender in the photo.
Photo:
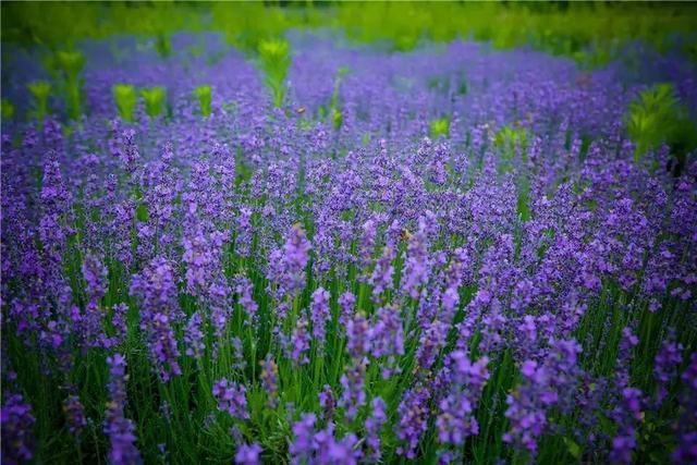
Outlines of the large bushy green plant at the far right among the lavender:
[{"label": "large bushy green plant at the far right among the lavender", "polygon": [[627,132],[636,145],[635,161],[665,143],[684,161],[697,147],[697,127],[681,105],[672,84],[657,84],[641,91],[629,105]]}]

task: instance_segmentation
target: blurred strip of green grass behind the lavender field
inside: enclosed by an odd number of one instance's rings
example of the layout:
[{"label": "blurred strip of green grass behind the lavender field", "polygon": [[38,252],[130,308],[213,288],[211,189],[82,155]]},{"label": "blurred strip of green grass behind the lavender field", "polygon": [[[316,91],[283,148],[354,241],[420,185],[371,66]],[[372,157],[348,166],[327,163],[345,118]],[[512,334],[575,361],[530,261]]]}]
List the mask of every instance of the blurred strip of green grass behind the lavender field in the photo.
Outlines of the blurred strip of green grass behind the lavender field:
[{"label": "blurred strip of green grass behind the lavender field", "polygon": [[[154,37],[156,49],[172,52],[179,30],[217,30],[245,51],[292,28],[332,27],[358,41],[411,50],[423,40],[473,38],[496,48],[533,46],[585,66],[615,57],[640,39],[659,50],[671,35],[696,30],[697,7],[689,3],[606,2],[3,2],[2,40],[72,45],[114,34]],[[70,24],[65,28],[64,24]],[[685,52],[694,52],[694,41]],[[692,48],[690,48],[692,47]]]}]

